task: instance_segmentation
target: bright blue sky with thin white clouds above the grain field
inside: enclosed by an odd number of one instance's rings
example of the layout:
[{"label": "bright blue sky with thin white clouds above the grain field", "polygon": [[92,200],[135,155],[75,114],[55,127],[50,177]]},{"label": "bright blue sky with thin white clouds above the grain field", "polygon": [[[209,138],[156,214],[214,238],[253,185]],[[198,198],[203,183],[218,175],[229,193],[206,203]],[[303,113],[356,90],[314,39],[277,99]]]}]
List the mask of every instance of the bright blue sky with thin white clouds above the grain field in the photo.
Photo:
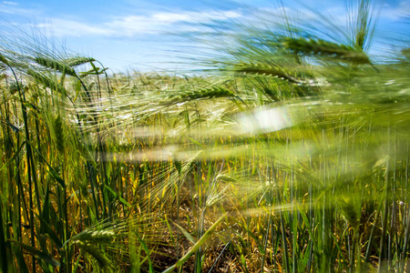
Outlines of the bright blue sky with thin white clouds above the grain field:
[{"label": "bright blue sky with thin white clouds above the grain field", "polygon": [[[408,19],[407,24],[400,22],[410,14],[410,0],[376,4],[382,6],[379,30],[386,43],[390,35],[410,30]],[[283,1],[283,6],[287,12],[303,13],[305,19],[320,12],[336,23],[345,21],[344,1],[292,0]],[[183,43],[180,36],[166,34],[201,31],[200,24],[215,21],[246,23],[254,19],[255,9],[274,14],[278,7],[275,0],[0,0],[0,25],[28,33],[35,29],[114,72],[172,70],[183,66],[172,54]]]}]

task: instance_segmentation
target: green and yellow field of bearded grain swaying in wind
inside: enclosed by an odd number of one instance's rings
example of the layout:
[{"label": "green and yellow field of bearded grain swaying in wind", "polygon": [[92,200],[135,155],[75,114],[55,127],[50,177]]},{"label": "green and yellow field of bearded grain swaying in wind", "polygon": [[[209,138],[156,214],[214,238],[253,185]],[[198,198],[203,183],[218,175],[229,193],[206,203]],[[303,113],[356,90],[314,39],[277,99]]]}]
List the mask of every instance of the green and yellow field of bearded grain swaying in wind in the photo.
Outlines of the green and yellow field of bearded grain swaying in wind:
[{"label": "green and yellow field of bearded grain swaying in wind", "polygon": [[0,270],[410,272],[410,50],[372,56],[369,10],[200,74],[1,37]]}]

